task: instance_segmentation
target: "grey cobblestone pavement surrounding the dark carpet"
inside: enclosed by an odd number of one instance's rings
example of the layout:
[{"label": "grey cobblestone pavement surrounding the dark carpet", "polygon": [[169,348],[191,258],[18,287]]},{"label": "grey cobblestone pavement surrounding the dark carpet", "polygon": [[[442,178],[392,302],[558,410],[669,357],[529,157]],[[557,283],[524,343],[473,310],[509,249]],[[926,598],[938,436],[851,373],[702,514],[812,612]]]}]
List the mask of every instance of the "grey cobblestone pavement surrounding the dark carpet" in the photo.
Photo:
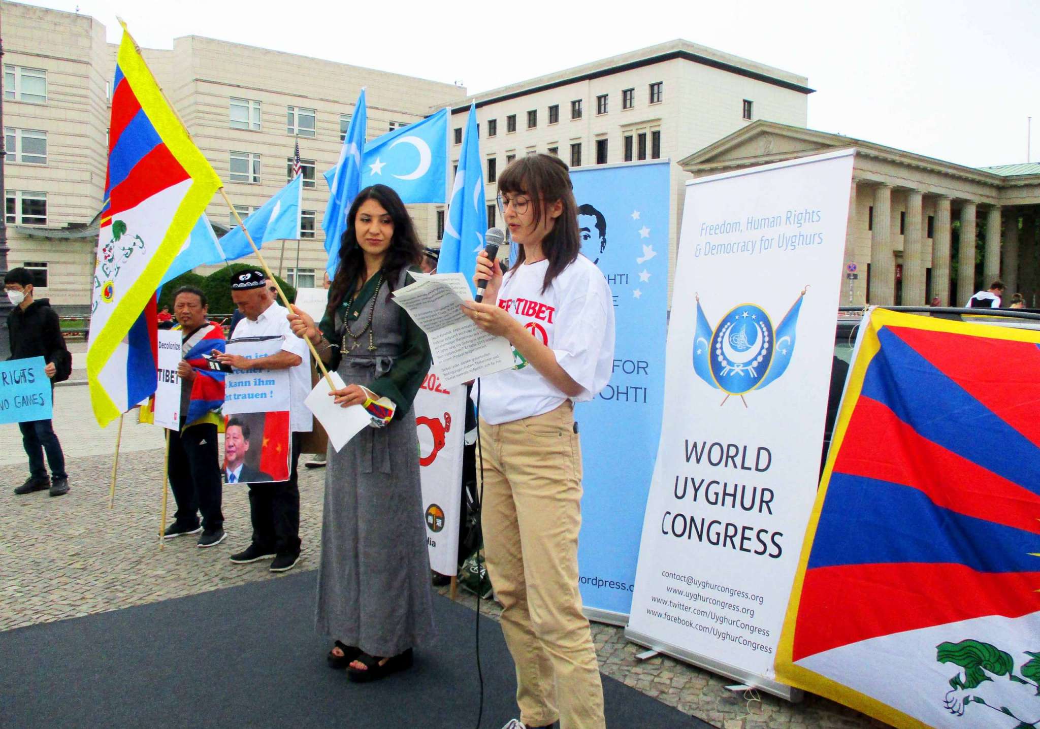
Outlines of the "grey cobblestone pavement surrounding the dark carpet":
[{"label": "grey cobblestone pavement surrounding the dark carpet", "polygon": [[[161,433],[131,425],[130,416],[124,423],[115,506],[109,510],[115,425],[97,426],[86,387],[62,387],[56,399],[55,429],[69,461],[67,496],[11,493],[27,475],[25,455],[18,426],[0,425],[0,630],[278,578],[266,563],[228,561],[250,539],[244,488],[225,489],[224,544],[199,549],[193,538],[182,537],[159,549]],[[296,570],[317,567],[323,477],[323,469],[301,470],[304,544]],[[167,522],[173,511],[171,497]],[[446,595],[447,588],[440,592]],[[465,592],[458,599],[475,604]],[[491,601],[483,601],[480,610],[497,618]],[[603,673],[721,729],[885,726],[814,696],[801,704],[765,694],[749,700],[725,688],[732,681],[665,656],[640,661],[635,654],[644,649],[627,643],[616,626],[594,624],[593,639]]]}]

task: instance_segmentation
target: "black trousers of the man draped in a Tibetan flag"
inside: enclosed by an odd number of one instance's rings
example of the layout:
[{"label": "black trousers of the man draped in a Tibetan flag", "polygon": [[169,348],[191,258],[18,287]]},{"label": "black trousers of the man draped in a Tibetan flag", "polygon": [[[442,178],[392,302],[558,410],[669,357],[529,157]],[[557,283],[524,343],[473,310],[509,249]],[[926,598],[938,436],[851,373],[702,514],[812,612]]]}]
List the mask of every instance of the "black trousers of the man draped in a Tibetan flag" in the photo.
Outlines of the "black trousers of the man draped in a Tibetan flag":
[{"label": "black trousers of the man draped in a Tibetan flag", "polygon": [[224,528],[220,512],[223,485],[216,442],[216,424],[200,423],[178,433],[170,432],[170,488],[177,502],[175,521],[207,531]]}]

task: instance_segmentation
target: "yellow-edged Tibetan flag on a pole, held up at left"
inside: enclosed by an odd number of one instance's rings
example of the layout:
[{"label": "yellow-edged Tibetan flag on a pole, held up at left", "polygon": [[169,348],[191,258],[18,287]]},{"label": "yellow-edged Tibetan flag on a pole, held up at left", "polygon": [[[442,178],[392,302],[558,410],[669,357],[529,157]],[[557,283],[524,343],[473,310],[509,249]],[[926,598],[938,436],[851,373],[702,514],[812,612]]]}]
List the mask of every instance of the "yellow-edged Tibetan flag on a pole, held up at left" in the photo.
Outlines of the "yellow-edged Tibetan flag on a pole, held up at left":
[{"label": "yellow-edged Tibetan flag on a pole, held up at left", "polygon": [[101,425],[155,391],[154,316],[142,312],[220,184],[124,28],[86,354]]}]

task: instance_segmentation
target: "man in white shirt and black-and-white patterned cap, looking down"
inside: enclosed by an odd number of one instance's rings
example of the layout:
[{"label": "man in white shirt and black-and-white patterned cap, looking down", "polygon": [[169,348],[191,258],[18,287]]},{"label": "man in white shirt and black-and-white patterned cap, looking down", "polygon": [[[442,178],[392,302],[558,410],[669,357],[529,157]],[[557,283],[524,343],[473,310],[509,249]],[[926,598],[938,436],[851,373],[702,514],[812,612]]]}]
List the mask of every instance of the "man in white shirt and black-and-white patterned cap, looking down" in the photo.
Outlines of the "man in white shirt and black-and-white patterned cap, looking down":
[{"label": "man in white shirt and black-and-white patterned cap, looking down", "polygon": [[307,343],[292,333],[288,312],[275,302],[259,268],[243,270],[231,279],[231,300],[243,318],[235,326],[231,340],[246,337],[281,337],[278,354],[248,360],[240,355],[222,354],[220,362],[236,369],[289,370],[289,429],[292,431],[292,463],[289,480],[250,484],[250,516],[253,542],[231,561],[243,565],[270,559],[271,572],[291,570],[300,559],[300,489],[296,465],[300,461],[301,433],[311,429],[313,419],[304,405],[311,391],[311,356]]}]

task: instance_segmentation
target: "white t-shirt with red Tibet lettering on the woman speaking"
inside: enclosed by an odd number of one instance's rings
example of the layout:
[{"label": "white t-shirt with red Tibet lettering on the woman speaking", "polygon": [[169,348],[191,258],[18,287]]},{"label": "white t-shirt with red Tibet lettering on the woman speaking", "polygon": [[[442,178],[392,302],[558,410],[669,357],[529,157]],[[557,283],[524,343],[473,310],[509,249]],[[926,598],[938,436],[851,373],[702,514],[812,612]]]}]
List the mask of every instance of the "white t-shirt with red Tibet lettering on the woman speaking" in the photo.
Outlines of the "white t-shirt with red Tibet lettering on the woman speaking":
[{"label": "white t-shirt with red Tibet lettering on the woman speaking", "polygon": [[[543,260],[506,272],[498,306],[552,349],[560,366],[583,388],[572,399],[591,400],[610,380],[614,362],[610,287],[596,264],[579,255],[543,293],[548,266]],[[480,417],[492,425],[548,413],[566,399],[522,358],[513,369],[480,377]]]}]

